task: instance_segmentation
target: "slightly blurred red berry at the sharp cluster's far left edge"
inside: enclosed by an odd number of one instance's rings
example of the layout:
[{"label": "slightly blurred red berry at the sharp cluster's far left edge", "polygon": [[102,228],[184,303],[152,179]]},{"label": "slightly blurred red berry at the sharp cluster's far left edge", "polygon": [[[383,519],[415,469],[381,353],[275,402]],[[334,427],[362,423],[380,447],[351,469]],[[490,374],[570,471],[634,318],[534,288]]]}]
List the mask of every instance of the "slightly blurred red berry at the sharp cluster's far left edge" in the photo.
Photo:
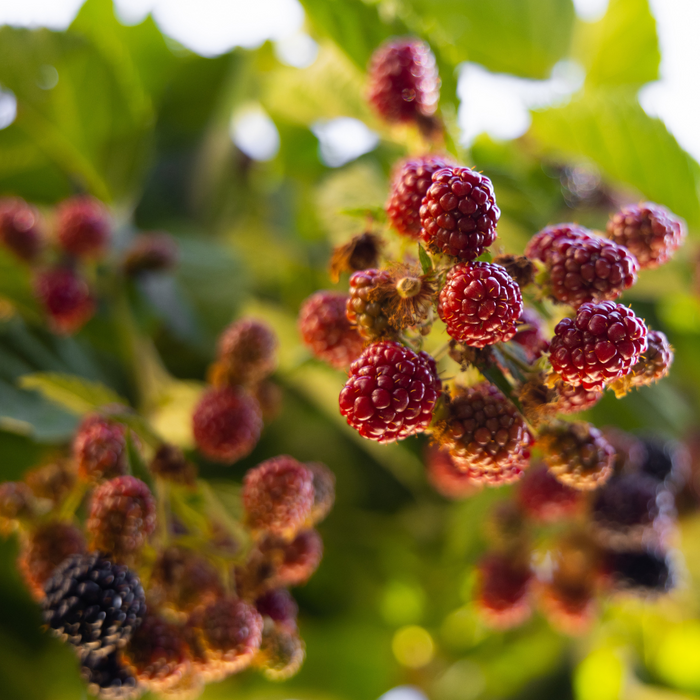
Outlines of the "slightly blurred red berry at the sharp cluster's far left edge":
[{"label": "slightly blurred red berry at the sharp cluster's far left edge", "polygon": [[299,311],[299,333],[304,345],[336,369],[346,369],[364,347],[346,315],[349,298],[336,292],[316,292]]}]

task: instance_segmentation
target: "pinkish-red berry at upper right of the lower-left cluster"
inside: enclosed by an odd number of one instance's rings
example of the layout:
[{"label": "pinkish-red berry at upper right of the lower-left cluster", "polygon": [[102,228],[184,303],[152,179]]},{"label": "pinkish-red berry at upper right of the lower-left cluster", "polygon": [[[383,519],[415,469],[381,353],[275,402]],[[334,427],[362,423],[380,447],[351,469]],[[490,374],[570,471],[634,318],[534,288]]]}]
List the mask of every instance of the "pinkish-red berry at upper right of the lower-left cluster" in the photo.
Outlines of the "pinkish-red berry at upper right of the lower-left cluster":
[{"label": "pinkish-red berry at upper right of the lower-left cluster", "polygon": [[296,532],[313,507],[313,473],[293,457],[268,459],[245,475],[242,498],[253,529]]}]

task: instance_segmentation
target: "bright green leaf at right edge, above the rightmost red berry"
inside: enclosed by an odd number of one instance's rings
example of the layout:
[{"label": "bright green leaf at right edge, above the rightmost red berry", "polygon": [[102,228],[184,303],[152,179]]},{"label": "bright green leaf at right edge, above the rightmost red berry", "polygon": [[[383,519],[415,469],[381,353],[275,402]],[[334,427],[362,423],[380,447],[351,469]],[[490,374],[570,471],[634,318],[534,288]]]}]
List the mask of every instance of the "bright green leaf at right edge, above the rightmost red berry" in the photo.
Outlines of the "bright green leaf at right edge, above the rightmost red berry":
[{"label": "bright green leaf at right edge, above the rightmost red berry", "polygon": [[587,91],[563,107],[534,112],[529,136],[543,152],[592,161],[611,180],[700,225],[700,167],[632,92]]}]

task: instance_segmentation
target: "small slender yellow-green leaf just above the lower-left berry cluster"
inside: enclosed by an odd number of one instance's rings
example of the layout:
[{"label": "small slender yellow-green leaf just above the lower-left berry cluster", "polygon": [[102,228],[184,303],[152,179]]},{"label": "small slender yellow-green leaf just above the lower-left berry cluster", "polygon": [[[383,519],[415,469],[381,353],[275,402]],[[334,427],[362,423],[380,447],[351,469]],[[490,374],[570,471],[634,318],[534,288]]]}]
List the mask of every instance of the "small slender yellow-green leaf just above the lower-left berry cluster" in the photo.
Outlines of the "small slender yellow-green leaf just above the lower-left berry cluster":
[{"label": "small slender yellow-green leaf just above the lower-left berry cluster", "polygon": [[107,404],[126,405],[125,399],[104,384],[71,374],[35,372],[20,377],[19,385],[22,389],[38,391],[47,399],[78,414],[93,411]]}]

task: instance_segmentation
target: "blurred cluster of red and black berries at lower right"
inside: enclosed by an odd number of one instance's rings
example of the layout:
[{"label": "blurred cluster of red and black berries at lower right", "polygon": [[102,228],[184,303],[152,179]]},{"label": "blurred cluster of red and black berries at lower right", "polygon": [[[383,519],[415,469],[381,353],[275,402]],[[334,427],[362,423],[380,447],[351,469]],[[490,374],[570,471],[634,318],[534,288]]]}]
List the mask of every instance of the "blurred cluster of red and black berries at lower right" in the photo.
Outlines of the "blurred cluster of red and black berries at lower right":
[{"label": "blurred cluster of red and black berries at lower right", "polygon": [[493,627],[522,624],[537,605],[564,634],[597,618],[602,596],[650,598],[678,582],[675,495],[688,476],[684,446],[617,430],[613,475],[585,493],[543,464],[525,474],[486,528],[474,603]]}]

